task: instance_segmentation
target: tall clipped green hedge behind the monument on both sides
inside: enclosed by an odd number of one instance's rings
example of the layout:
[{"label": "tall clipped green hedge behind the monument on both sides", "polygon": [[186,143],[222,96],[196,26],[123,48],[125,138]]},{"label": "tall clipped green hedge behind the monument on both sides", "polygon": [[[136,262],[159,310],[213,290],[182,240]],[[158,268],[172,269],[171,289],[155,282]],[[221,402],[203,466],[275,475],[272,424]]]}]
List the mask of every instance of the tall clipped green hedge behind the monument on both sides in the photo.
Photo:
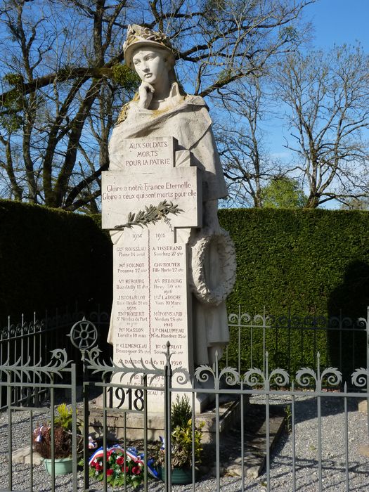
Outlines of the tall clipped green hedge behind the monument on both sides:
[{"label": "tall clipped green hedge behind the monument on both sides", "polygon": [[[228,313],[281,316],[365,316],[369,304],[369,213],[326,210],[221,209],[221,225],[237,250],[238,274]],[[100,216],[0,200],[0,321],[9,314],[96,304],[110,309],[112,246]],[[337,332],[311,331],[301,349],[299,330],[266,332],[271,365],[338,365]],[[230,361],[237,363],[237,337]],[[345,351],[352,339],[343,338]],[[254,332],[253,365],[263,363],[262,333]],[[361,344],[365,352],[365,342]],[[256,349],[256,351],[255,351]],[[344,354],[343,354],[344,355]],[[242,361],[250,364],[250,333],[242,335]],[[358,367],[358,365],[356,365]]]}]

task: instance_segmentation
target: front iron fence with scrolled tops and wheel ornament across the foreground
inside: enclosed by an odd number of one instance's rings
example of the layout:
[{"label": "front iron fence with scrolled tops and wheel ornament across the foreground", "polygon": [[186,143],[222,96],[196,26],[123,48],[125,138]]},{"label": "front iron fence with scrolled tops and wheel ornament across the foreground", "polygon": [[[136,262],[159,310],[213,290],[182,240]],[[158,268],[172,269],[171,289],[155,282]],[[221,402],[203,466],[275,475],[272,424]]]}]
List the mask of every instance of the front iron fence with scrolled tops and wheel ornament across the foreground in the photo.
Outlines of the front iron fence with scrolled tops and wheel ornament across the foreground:
[{"label": "front iron fence with scrolled tops and wheel ornament across the foreground", "polygon": [[[206,481],[208,490],[217,492],[227,485],[242,492],[259,490],[260,486],[266,491],[278,492],[323,491],[325,484],[330,481],[334,481],[336,491],[368,488],[366,458],[358,458],[357,453],[352,451],[353,443],[358,444],[357,441],[355,443],[356,434],[360,434],[362,442],[369,442],[368,417],[365,417],[367,425],[363,426],[361,422],[361,428],[358,428],[357,420],[352,418],[357,412],[358,401],[369,399],[368,368],[354,370],[350,390],[347,384],[342,387],[342,373],[337,368],[321,365],[319,354],[313,367],[300,368],[293,374],[283,368],[269,368],[266,353],[262,368],[252,367],[240,372],[231,366],[221,367],[216,361],[212,367],[202,365],[190,375],[186,368],[171,367],[169,344],[164,366],[157,368],[143,361],[127,366],[106,360],[96,346],[97,330],[89,321],[75,323],[70,335],[82,360],[80,398],[77,367],[68,360],[65,349],[54,350],[47,364],[39,361],[33,365],[27,360],[22,365],[5,363],[0,366],[5,376],[1,380],[1,388],[6,389],[7,396],[6,413],[1,414],[1,426],[7,429],[7,437],[3,439],[0,448],[0,460],[4,462],[5,455],[8,459],[8,466],[0,467],[0,479],[6,487],[4,490],[93,491],[100,484],[99,489],[108,491],[111,490],[110,477],[117,473],[110,464],[111,455],[115,453],[115,462],[119,457],[124,460],[128,456],[129,462],[134,460],[136,466],[134,472],[128,465],[121,469],[119,490],[131,490],[127,488],[129,477],[136,474],[141,476],[140,490],[171,491],[171,481],[176,470],[172,465],[179,456],[178,450],[174,452],[175,434],[172,434],[174,429],[171,428],[171,403],[175,394],[187,394],[191,403],[190,430],[183,437],[183,442],[186,439],[190,441],[190,489],[193,491],[200,488],[202,481]],[[40,394],[47,397],[39,402],[28,400],[19,406],[13,403],[11,394],[14,388],[20,387],[37,387],[41,390]],[[160,395],[162,401],[161,431],[160,424],[154,423],[155,417],[150,408],[150,392],[153,391]],[[115,398],[110,399],[111,393]],[[101,396],[96,398],[96,394]],[[122,394],[127,397],[124,404]],[[195,412],[195,401],[199,394],[209,396],[212,401],[210,421],[207,412]],[[48,422],[44,424],[46,427],[54,429],[56,426],[56,406],[60,399],[68,403],[72,418],[72,473],[67,479],[61,479],[56,474],[56,431],[51,432],[53,451],[50,474],[43,471],[37,456],[32,452],[35,428],[40,429],[45,420]],[[250,424],[247,419],[252,415],[255,420],[257,406],[264,412],[264,424],[261,426],[263,439],[259,436],[259,449],[254,452],[255,444],[250,445]],[[278,434],[273,429],[276,406],[282,410],[280,414],[284,415],[287,437],[281,441],[283,446],[273,451],[273,439]],[[224,419],[230,413],[233,413],[233,422],[231,429],[227,430]],[[334,455],[327,455],[325,443],[327,440],[332,441],[332,433],[327,435],[326,421],[331,416],[339,417],[339,425],[334,423],[332,427],[335,431]],[[301,432],[301,426],[306,420],[309,421],[308,436],[306,432]],[[202,453],[202,465],[198,462],[196,448],[196,433],[199,429],[202,436],[205,431],[211,434],[207,444],[202,445],[206,449]],[[156,430],[162,433],[165,443],[164,449],[160,450],[160,467],[156,465],[159,458],[155,448],[157,450],[161,446]],[[129,433],[133,431],[138,431],[139,435],[130,436]],[[78,446],[79,436],[82,436],[84,443],[80,455],[78,452],[82,448]],[[90,437],[99,441],[101,451],[89,448]],[[306,446],[306,439],[309,439],[309,447]],[[30,462],[14,463],[13,457],[19,451],[18,448],[25,444],[29,447]],[[138,451],[130,447],[133,445],[138,446]],[[286,455],[285,449],[289,454]],[[261,454],[264,459],[255,464]],[[231,472],[233,474],[230,477]],[[302,485],[303,472],[305,482]],[[153,474],[157,474],[157,477],[154,478]],[[103,478],[101,482],[97,481],[98,477]],[[282,484],[286,484],[285,488]]]}]

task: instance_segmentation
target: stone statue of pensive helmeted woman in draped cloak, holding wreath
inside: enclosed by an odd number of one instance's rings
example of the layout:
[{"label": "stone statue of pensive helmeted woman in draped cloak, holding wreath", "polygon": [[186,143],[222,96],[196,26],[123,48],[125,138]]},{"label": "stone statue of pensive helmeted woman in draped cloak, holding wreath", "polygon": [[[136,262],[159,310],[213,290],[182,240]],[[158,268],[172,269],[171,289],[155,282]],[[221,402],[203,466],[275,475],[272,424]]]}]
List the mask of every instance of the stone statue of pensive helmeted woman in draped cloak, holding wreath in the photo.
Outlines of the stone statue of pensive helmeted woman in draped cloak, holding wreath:
[{"label": "stone statue of pensive helmeted woman in draped cloak, holding wreath", "polygon": [[[190,235],[193,278],[195,363],[213,363],[228,343],[225,299],[233,287],[235,261],[231,240],[219,227],[218,199],[227,195],[221,162],[205,101],[183,92],[174,73],[169,39],[138,25],[129,26],[124,59],[141,79],[133,101],[124,105],[109,143],[110,170],[119,169],[122,141],[172,136],[180,150],[190,150],[202,170],[202,229]],[[227,259],[227,248],[231,251]],[[222,268],[219,267],[222,262]],[[227,281],[224,272],[227,272]],[[226,285],[228,284],[228,285]]]}]

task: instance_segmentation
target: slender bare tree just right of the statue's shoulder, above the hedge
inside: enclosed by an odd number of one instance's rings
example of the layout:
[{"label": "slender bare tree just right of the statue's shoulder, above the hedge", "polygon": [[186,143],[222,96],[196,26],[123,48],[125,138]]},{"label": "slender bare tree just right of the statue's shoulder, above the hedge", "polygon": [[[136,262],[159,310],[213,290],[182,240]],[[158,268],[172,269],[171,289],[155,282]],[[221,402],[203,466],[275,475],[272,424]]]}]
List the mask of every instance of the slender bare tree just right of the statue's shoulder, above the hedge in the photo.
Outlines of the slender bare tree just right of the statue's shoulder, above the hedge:
[{"label": "slender bare tree just right of the statue's shoulder, above the hedge", "polygon": [[227,111],[226,121],[216,125],[216,138],[231,206],[262,207],[266,183],[286,172],[266,148],[261,123],[271,108],[263,83],[260,77],[240,80],[218,98]]}]

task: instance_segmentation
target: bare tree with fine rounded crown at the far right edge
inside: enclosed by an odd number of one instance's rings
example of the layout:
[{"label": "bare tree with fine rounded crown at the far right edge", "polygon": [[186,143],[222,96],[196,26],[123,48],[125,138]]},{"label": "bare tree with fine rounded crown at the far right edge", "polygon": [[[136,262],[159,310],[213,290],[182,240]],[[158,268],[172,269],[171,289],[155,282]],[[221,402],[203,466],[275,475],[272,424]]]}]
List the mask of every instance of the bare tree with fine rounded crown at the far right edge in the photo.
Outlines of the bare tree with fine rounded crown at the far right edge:
[{"label": "bare tree with fine rounded crown at the far right edge", "polygon": [[309,187],[306,207],[349,203],[367,194],[369,57],[360,46],[287,56],[276,94],[286,103],[297,169]]}]

